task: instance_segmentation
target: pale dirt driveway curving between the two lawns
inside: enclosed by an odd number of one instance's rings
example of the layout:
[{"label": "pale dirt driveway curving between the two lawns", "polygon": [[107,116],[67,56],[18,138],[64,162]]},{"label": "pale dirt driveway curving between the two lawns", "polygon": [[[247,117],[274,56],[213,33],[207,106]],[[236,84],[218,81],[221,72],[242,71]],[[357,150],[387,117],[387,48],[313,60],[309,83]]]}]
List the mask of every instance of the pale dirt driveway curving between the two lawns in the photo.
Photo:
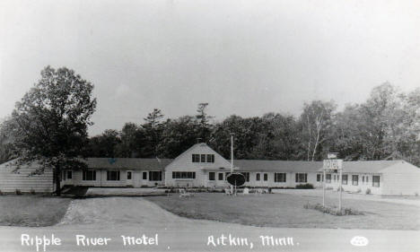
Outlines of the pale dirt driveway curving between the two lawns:
[{"label": "pale dirt driveway curving between the two lawns", "polygon": [[[104,197],[74,200],[57,227],[139,226],[142,229],[196,229],[232,226],[230,223],[189,220],[163,210],[141,197]],[[238,225],[239,226],[239,225]]]}]

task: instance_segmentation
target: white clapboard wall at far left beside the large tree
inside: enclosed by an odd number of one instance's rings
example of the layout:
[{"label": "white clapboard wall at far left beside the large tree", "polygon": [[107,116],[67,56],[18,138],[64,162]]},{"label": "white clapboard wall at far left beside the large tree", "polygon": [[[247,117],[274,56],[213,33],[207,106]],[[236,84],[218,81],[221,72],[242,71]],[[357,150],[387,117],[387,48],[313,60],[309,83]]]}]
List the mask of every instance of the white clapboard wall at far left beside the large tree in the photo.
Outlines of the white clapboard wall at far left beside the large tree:
[{"label": "white clapboard wall at far left beside the large tree", "polygon": [[52,169],[45,169],[40,175],[31,175],[36,165],[22,166],[21,169],[15,170],[15,166],[8,164],[10,162],[0,165],[0,190],[2,192],[15,192],[16,189],[22,193],[31,192],[31,190],[35,193],[53,192]]}]

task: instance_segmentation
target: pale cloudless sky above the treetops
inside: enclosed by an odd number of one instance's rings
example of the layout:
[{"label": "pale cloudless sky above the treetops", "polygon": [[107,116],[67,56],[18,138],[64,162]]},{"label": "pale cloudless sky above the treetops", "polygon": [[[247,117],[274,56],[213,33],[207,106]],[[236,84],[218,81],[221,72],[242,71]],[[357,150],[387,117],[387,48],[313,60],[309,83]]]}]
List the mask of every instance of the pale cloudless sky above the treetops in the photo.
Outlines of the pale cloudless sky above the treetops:
[{"label": "pale cloudless sky above the treetops", "polygon": [[221,121],[420,87],[420,1],[1,1],[0,118],[47,65],[94,84],[90,135],[166,118]]}]

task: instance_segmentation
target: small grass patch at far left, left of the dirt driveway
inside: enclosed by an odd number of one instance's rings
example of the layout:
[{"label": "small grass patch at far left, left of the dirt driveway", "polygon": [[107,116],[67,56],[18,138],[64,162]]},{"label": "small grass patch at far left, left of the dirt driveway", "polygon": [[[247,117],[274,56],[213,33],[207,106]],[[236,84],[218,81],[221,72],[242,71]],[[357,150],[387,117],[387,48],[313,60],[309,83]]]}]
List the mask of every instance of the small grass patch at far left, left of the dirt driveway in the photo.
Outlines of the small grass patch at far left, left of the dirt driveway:
[{"label": "small grass patch at far left, left of the dirt driveway", "polygon": [[0,196],[0,225],[54,225],[66,214],[71,199],[47,196]]}]

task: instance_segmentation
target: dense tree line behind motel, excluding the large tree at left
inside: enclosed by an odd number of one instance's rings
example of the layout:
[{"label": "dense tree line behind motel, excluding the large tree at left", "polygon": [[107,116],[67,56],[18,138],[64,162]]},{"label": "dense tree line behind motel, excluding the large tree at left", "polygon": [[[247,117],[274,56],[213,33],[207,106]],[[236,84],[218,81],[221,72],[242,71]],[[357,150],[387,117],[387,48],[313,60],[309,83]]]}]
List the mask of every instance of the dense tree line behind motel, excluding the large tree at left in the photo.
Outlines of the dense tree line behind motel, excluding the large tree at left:
[{"label": "dense tree line behind motel, excluding the large tree at left", "polygon": [[304,103],[299,117],[270,112],[211,123],[207,106],[198,104],[194,116],[167,119],[161,109],[153,109],[143,123],[91,137],[87,152],[92,157],[175,158],[204,142],[229,158],[233,134],[236,159],[321,161],[337,152],[346,161],[420,164],[420,89],[404,93],[384,83],[363,103],[341,111],[333,100]]}]

